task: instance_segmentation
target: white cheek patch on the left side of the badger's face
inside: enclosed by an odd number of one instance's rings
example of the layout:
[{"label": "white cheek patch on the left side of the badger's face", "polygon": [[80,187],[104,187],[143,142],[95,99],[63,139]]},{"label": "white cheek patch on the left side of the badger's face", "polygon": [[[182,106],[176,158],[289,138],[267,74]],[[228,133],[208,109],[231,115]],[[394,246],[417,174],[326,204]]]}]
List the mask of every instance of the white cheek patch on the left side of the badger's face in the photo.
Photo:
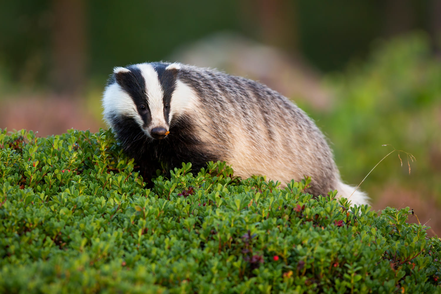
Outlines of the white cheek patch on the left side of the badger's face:
[{"label": "white cheek patch on the left side of the badger's face", "polygon": [[119,115],[132,117],[140,126],[143,125],[133,99],[121,89],[120,85],[117,83],[114,83],[105,89],[102,102],[104,118],[108,124],[110,123],[110,118],[113,116],[112,113],[117,112]]}]

